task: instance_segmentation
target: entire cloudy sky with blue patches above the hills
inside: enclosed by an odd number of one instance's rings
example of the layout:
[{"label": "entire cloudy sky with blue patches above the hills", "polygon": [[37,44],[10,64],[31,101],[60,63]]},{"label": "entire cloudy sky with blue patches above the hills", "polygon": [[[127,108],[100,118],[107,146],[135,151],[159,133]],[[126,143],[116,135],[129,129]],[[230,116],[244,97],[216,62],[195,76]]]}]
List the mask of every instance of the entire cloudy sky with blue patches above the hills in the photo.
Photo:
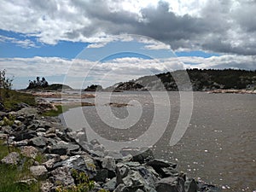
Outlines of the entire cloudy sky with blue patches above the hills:
[{"label": "entire cloudy sky with blue patches above the hills", "polygon": [[14,88],[103,87],[186,68],[256,70],[255,0],[1,0],[0,70]]}]

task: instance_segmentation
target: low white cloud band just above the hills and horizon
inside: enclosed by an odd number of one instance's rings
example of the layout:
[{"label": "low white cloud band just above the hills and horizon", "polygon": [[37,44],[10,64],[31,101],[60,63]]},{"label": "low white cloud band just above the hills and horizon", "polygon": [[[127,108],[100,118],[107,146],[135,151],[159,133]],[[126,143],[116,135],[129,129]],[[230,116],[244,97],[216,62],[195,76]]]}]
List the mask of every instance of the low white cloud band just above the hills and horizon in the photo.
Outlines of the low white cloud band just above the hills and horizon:
[{"label": "low white cloud band just above the hills and horizon", "polygon": [[[25,77],[66,76],[66,84],[84,87],[102,82],[103,86],[120,81],[137,79],[144,75],[164,73],[186,68],[244,68],[255,70],[255,56],[222,55],[210,58],[171,57],[167,59],[145,60],[141,58],[119,58],[108,62],[67,60],[59,57],[1,58],[1,67],[15,82]],[[78,80],[79,79],[79,80]],[[83,80],[85,84],[83,84]],[[63,83],[63,82],[58,82]],[[15,84],[19,87],[19,84]],[[24,88],[24,87],[22,87]]]}]

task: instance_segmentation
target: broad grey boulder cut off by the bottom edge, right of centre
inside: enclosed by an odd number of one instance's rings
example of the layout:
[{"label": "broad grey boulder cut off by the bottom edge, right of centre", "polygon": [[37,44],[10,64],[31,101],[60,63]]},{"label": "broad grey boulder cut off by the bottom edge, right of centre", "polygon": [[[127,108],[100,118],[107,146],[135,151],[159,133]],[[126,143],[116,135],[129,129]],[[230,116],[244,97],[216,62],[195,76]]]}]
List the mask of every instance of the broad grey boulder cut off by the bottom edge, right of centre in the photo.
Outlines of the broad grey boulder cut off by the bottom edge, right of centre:
[{"label": "broad grey boulder cut off by the bottom edge, right of centre", "polygon": [[185,192],[184,180],[181,177],[166,177],[155,183],[157,192]]}]

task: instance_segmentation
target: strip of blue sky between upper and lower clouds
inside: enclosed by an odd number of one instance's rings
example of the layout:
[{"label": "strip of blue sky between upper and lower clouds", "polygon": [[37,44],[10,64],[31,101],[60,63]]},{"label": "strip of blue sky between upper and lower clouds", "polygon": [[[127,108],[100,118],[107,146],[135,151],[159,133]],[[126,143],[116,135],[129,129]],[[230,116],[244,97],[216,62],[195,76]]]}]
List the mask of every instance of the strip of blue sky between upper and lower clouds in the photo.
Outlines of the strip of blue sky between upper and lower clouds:
[{"label": "strip of blue sky between upper and lower clouds", "polygon": [[[79,53],[85,49],[90,43],[81,43],[81,42],[70,42],[70,41],[59,41],[58,44],[42,44],[38,42],[37,38],[26,36],[26,34],[22,34],[20,32],[8,32],[4,30],[0,30],[0,37],[6,37],[6,38],[15,38],[15,39],[6,39],[4,41],[0,41],[0,57],[2,58],[14,58],[14,57],[33,57],[33,56],[44,56],[44,57],[61,57],[61,58],[67,58],[67,59],[73,59]],[[0,38],[1,39],[1,38]],[[29,44],[21,44],[21,42],[29,40],[33,45],[30,46]],[[20,41],[20,44],[17,43]],[[106,53],[102,53],[102,55],[109,55],[110,52],[119,52],[119,47],[124,46],[124,42],[119,42],[115,44],[110,45],[110,50],[106,51]],[[137,42],[133,42],[132,44],[129,44],[129,46],[126,46],[126,49],[130,49],[131,51],[134,51],[134,48],[137,46]],[[98,51],[102,51],[105,49],[99,48]],[[88,59],[91,61],[99,60],[97,58],[97,55],[91,54],[94,50],[88,50],[86,55],[84,55],[84,59]],[[151,54],[154,54],[151,51]],[[132,52],[131,52],[132,53]],[[172,54],[167,51],[159,51],[157,53],[158,55],[155,55],[155,57],[168,57]],[[177,56],[200,56],[200,57],[211,57],[212,55],[219,55],[217,53],[207,53],[200,50],[191,50],[191,51],[177,51],[175,52]],[[95,56],[95,57],[94,57]],[[120,55],[119,55],[120,56]],[[124,55],[127,56],[127,55]],[[130,55],[132,56],[132,55]],[[137,56],[136,53],[133,54],[133,56]],[[113,58],[113,56],[112,56]]]}]

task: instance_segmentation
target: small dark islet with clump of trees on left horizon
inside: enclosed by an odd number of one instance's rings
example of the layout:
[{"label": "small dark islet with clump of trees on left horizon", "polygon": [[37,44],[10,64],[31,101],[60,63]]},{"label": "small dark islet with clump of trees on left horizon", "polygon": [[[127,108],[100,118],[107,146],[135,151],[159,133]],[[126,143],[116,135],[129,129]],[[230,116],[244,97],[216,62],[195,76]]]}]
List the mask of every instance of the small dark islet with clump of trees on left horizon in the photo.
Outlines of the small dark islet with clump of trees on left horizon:
[{"label": "small dark islet with clump of trees on left horizon", "polygon": [[65,84],[49,84],[43,77],[37,77],[35,80],[30,80],[26,90],[62,90],[72,89],[70,86]]}]

